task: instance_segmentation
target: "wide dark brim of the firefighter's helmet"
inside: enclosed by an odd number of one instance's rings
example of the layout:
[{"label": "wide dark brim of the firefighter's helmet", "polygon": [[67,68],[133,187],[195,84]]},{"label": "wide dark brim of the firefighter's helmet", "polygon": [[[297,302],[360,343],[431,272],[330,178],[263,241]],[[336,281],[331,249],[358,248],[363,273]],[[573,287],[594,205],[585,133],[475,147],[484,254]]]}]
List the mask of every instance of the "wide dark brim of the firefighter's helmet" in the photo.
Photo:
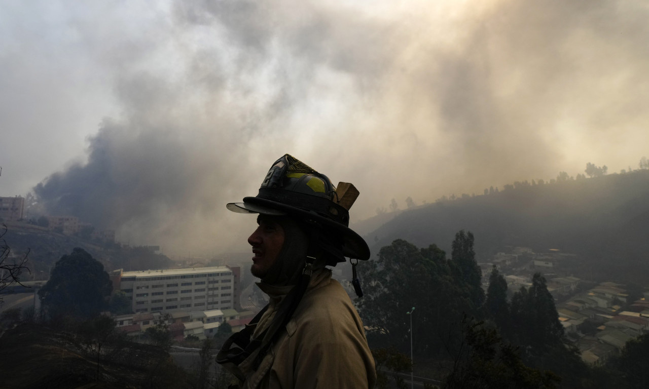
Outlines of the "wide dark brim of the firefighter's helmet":
[{"label": "wide dark brim of the firefighter's helmet", "polygon": [[236,213],[260,213],[262,215],[285,216],[291,215],[302,219],[314,220],[324,228],[337,231],[343,238],[343,255],[345,257],[367,261],[370,256],[369,247],[358,233],[330,218],[309,212],[298,207],[288,206],[273,200],[258,197],[245,197],[242,203],[228,203],[227,209]]}]

